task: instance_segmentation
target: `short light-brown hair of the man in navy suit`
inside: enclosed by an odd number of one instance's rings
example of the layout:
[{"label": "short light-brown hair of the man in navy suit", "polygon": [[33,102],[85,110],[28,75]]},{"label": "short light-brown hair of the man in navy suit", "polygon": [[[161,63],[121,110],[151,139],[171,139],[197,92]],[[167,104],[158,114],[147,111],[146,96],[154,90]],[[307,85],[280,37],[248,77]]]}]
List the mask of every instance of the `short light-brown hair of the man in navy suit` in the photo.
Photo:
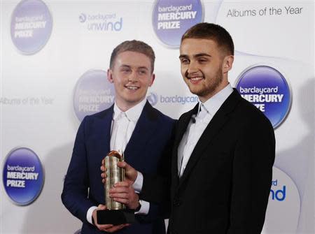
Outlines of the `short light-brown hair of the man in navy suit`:
[{"label": "short light-brown hair of the man in navy suit", "polygon": [[113,52],[111,52],[111,61],[109,62],[109,67],[112,69],[115,64],[115,59],[118,56],[118,54],[125,52],[125,51],[133,51],[133,52],[139,52],[141,54],[146,55],[150,61],[151,61],[151,72],[153,73],[154,70],[154,61],[155,61],[155,54],[150,45],[147,43],[144,43],[143,41],[124,41],[123,43],[120,43],[113,49]]}]

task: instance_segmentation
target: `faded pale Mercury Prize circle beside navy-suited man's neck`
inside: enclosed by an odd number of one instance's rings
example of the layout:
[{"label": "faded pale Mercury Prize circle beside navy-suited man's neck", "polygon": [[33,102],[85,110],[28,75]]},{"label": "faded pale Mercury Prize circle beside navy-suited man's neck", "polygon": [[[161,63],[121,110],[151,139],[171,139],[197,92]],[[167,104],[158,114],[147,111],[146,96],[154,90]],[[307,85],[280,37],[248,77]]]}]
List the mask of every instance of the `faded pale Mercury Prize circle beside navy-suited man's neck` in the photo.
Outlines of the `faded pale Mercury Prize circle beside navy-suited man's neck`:
[{"label": "faded pale Mercury Prize circle beside navy-suited man's neck", "polygon": [[106,71],[90,70],[84,73],[76,84],[73,108],[80,121],[109,108],[115,99],[115,88],[107,80]]}]

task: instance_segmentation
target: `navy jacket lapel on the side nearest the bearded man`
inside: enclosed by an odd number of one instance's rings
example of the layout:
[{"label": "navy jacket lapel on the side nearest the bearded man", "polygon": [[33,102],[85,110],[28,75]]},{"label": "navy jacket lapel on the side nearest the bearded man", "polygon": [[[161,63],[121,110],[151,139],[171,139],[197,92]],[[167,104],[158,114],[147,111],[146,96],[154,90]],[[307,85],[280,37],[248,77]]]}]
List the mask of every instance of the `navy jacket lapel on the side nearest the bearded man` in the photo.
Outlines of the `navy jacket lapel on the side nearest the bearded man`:
[{"label": "navy jacket lapel on the side nearest the bearded man", "polygon": [[152,138],[158,127],[158,115],[152,105],[146,101],[132,136],[125,148],[125,161],[136,169],[141,165],[141,155],[146,147],[146,142]]}]

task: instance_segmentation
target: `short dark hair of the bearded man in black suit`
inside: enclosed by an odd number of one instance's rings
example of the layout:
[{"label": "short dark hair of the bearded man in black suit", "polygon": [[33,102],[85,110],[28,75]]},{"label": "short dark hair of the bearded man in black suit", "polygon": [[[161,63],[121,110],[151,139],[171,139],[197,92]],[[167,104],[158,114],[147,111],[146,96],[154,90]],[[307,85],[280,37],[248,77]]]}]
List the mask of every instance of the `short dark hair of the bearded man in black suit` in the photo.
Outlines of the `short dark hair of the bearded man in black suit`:
[{"label": "short dark hair of the bearded man in black suit", "polygon": [[226,52],[234,55],[234,43],[231,35],[218,24],[200,23],[188,29],[181,37],[181,43],[186,38],[200,38],[214,40],[218,47],[222,47]]}]

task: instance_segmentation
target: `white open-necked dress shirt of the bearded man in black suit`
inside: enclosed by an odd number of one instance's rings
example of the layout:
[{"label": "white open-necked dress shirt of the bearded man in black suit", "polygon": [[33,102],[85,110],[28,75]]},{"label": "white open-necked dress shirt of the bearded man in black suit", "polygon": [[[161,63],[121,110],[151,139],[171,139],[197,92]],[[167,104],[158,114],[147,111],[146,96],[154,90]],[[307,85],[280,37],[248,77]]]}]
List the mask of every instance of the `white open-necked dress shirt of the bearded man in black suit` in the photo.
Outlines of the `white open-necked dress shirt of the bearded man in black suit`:
[{"label": "white open-necked dress shirt of the bearded man in black suit", "polygon": [[214,117],[218,109],[224,103],[224,101],[232,94],[233,89],[228,84],[220,92],[209,98],[207,101],[202,103],[199,101],[199,108],[195,120],[190,119],[190,123],[186,129],[186,132],[181,139],[179,149],[177,152],[178,156],[178,171],[179,177],[183,175],[183,172],[187,166],[197,142],[199,141],[202,133],[207,128],[211,119]]}]

